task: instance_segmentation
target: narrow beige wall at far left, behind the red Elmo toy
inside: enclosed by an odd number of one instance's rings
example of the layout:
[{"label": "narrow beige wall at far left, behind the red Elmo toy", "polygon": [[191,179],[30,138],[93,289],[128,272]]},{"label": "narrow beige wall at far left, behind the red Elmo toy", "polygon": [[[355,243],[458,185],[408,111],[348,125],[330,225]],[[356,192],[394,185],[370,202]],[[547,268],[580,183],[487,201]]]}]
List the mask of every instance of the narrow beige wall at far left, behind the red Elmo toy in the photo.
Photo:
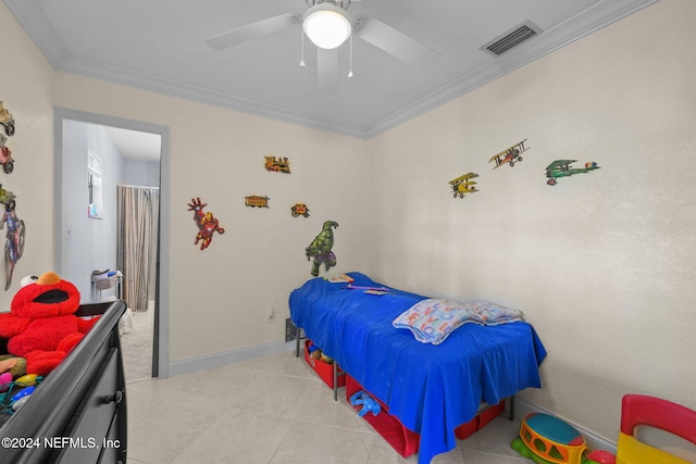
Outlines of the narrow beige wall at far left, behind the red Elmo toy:
[{"label": "narrow beige wall at far left, behind the red Elmo toy", "polygon": [[[0,184],[16,195],[16,214],[26,224],[24,255],[8,291],[4,291],[4,251],[0,254],[0,310],[9,310],[22,277],[53,267],[54,72],[4,5],[0,7],[0,42],[4,45],[0,100],[16,122],[14,136],[5,142],[15,160],[14,172],[0,172]],[[3,128],[0,130],[4,134]],[[7,226],[3,227],[2,250]]]}]

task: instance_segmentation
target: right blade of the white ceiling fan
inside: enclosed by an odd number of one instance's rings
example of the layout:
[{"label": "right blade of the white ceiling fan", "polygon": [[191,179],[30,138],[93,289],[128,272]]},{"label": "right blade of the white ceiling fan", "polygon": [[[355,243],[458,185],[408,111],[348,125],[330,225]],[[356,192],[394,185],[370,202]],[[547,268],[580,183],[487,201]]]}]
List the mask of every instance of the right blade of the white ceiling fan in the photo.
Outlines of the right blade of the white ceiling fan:
[{"label": "right blade of the white ceiling fan", "polygon": [[358,37],[408,64],[430,66],[439,60],[437,51],[374,17],[360,16],[356,23]]}]

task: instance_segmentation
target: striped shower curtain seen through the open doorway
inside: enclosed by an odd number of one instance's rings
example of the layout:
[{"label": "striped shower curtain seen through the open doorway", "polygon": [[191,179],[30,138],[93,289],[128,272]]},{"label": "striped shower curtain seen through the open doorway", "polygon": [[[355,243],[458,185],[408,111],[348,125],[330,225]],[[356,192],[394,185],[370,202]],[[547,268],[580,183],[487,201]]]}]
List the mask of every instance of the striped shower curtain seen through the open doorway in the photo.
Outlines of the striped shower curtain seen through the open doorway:
[{"label": "striped shower curtain seen through the open doorway", "polygon": [[160,189],[119,185],[116,264],[123,273],[123,298],[132,311],[147,311],[154,275]]}]

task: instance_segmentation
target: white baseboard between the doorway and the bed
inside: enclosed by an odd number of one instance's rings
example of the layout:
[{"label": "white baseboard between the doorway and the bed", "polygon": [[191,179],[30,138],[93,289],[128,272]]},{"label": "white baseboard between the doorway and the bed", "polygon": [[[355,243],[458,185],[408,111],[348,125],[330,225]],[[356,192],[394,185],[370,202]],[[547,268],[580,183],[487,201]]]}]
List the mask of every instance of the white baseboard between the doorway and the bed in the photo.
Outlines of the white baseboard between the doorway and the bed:
[{"label": "white baseboard between the doorway and the bed", "polygon": [[273,341],[270,343],[240,348],[238,350],[225,351],[223,353],[174,361],[169,365],[169,376],[194,374],[198,371],[222,367],[240,361],[271,356],[273,354],[282,354],[290,351],[295,351],[295,342]]}]

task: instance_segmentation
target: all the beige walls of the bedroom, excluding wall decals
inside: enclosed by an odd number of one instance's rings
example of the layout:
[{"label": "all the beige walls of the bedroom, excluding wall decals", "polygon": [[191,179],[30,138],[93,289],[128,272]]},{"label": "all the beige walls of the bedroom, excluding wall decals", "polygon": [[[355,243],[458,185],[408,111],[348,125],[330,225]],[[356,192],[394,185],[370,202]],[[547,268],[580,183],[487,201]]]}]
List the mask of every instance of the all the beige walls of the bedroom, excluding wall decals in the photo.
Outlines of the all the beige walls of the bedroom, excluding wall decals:
[{"label": "all the beige walls of the bedroom, excluding wall decals", "polygon": [[[663,0],[364,141],[53,73],[0,7],[14,45],[0,98],[17,118],[3,184],[29,231],[17,273],[53,265],[53,105],[169,126],[171,361],[282,340],[304,247],[334,220],[340,271],[524,310],[549,351],[545,388],[524,397],[614,440],[625,392],[696,409],[693,17],[693,1]],[[490,171],[523,138],[524,161]],[[293,174],[263,171],[268,153]],[[601,168],[549,187],[556,159]],[[481,191],[452,199],[448,180],[469,171]],[[206,252],[192,197],[227,230]],[[312,216],[293,218],[295,202]]]}]

